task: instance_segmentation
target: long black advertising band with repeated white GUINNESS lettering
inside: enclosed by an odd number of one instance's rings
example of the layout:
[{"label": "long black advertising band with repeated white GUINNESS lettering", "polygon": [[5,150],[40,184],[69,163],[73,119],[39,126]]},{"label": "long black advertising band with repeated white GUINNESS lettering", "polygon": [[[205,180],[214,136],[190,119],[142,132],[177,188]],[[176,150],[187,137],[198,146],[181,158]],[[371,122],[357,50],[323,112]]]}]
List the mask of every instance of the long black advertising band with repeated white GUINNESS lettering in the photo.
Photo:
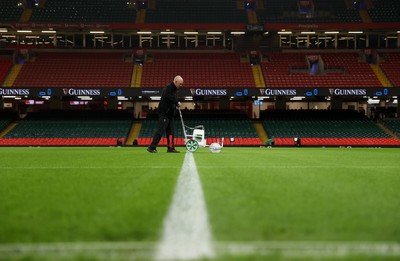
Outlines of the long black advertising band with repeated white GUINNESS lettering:
[{"label": "long black advertising band with repeated white GUINNESS lettering", "polygon": [[[149,97],[161,96],[162,88],[6,88],[0,96],[91,96],[91,97]],[[179,96],[194,97],[258,97],[258,96],[399,96],[399,87],[388,88],[181,88]]]}]

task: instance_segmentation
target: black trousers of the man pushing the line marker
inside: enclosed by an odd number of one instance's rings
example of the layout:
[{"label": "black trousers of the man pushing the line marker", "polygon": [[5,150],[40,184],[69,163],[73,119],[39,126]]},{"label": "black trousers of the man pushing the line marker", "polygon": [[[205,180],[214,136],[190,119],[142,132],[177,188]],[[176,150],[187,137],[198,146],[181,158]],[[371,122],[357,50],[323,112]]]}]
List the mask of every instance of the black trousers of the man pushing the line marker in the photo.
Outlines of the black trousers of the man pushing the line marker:
[{"label": "black trousers of the man pushing the line marker", "polygon": [[158,128],[151,141],[150,148],[155,149],[160,142],[162,136],[166,135],[168,149],[174,149],[174,117],[168,117],[165,115],[158,116]]}]

